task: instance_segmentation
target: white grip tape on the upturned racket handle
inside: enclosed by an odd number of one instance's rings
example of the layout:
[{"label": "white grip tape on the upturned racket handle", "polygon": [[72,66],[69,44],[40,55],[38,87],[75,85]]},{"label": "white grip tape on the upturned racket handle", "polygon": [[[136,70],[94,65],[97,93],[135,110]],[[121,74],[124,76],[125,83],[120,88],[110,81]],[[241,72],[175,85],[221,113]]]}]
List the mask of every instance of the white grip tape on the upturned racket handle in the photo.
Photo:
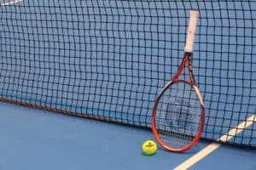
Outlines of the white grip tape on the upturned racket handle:
[{"label": "white grip tape on the upturned racket handle", "polygon": [[191,10],[190,19],[189,19],[189,29],[187,33],[187,40],[186,40],[186,46],[185,46],[185,52],[188,52],[188,53],[193,52],[195,28],[197,24],[198,15],[199,15],[198,10]]}]

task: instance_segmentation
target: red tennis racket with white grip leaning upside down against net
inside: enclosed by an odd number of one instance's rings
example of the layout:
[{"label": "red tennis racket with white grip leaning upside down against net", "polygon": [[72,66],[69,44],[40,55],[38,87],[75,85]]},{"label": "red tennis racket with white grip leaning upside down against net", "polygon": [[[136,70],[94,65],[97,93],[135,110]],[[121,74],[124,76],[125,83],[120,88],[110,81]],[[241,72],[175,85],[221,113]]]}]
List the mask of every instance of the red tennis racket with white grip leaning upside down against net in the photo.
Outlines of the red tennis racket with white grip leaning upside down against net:
[{"label": "red tennis racket with white grip leaning upside down against net", "polygon": [[[204,101],[195,83],[191,57],[199,11],[191,10],[184,57],[176,75],[160,91],[152,111],[152,131],[166,150],[189,150],[201,138],[205,120]],[[179,79],[188,70],[188,80]]]}]

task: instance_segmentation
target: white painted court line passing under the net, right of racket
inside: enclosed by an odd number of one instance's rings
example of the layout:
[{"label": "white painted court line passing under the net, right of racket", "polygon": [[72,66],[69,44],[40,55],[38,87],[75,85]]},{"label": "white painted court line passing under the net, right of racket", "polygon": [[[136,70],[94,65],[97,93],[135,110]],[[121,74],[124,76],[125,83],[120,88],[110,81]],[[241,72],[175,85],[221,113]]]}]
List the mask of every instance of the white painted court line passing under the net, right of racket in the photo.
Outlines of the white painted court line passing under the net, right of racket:
[{"label": "white painted court line passing under the net, right of racket", "polygon": [[[256,115],[250,116],[249,118],[247,118],[245,122],[241,122],[237,127],[232,128],[230,132],[225,133],[218,140],[220,141],[230,140],[237,133],[241,133],[241,131],[243,131],[245,128],[252,125],[253,122],[256,122]],[[217,143],[212,143],[207,145],[207,147],[205,147],[203,150],[199,151],[194,156],[190,157],[187,161],[183,161],[182,164],[175,167],[174,170],[188,169],[189,167],[193,166],[196,162],[200,161],[202,158],[209,155],[212,151],[217,150],[220,145],[221,144],[217,144]]]}]

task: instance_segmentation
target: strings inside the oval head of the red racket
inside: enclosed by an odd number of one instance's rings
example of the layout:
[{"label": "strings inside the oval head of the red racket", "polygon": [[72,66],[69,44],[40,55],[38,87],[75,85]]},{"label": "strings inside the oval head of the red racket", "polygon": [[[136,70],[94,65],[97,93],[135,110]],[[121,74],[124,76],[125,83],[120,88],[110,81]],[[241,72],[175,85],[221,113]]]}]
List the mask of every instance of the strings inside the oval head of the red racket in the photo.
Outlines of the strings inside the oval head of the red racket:
[{"label": "strings inside the oval head of the red racket", "polygon": [[185,82],[167,88],[158,104],[155,124],[165,144],[176,149],[190,144],[201,124],[201,105],[194,88]]}]

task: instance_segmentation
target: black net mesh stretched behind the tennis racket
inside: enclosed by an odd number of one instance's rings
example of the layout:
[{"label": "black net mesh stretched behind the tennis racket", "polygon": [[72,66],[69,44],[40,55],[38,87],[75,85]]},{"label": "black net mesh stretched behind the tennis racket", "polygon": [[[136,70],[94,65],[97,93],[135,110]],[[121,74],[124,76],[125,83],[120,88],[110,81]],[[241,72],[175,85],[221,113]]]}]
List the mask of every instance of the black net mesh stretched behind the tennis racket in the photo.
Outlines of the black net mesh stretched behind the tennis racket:
[{"label": "black net mesh stretched behind the tennis racket", "polygon": [[[154,99],[181,63],[189,11],[199,8],[202,137],[218,140],[255,114],[255,1],[0,2],[2,101],[150,127]],[[255,123],[227,139],[255,149]]]}]

